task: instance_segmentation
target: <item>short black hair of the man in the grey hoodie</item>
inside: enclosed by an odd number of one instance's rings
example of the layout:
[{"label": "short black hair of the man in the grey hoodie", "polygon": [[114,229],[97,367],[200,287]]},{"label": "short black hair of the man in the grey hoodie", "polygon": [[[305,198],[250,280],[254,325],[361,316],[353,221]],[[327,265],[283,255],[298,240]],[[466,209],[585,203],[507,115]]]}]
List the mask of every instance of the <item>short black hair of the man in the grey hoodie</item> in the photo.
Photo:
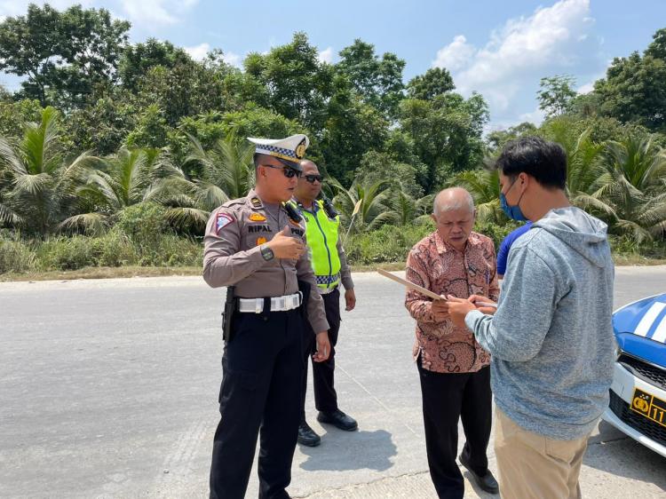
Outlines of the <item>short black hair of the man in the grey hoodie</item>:
[{"label": "short black hair of the man in the grey hoodie", "polygon": [[515,178],[525,172],[544,187],[567,186],[567,154],[555,142],[541,137],[521,137],[511,140],[495,162],[497,170]]}]

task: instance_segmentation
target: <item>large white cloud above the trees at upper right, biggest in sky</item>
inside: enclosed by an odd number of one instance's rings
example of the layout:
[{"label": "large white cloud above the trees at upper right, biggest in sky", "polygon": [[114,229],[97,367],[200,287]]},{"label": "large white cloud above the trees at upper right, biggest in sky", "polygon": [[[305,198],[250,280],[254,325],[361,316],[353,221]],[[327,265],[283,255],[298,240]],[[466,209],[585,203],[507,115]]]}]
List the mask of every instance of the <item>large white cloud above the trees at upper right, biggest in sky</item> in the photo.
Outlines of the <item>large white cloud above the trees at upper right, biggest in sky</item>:
[{"label": "large white cloud above the trees at upper right, biggest in sky", "polygon": [[433,67],[451,70],[457,90],[479,91],[488,100],[494,122],[525,121],[534,115],[536,91],[543,76],[595,73],[599,38],[591,36],[590,0],[560,0],[531,15],[507,20],[483,47],[464,36],[437,53]]}]

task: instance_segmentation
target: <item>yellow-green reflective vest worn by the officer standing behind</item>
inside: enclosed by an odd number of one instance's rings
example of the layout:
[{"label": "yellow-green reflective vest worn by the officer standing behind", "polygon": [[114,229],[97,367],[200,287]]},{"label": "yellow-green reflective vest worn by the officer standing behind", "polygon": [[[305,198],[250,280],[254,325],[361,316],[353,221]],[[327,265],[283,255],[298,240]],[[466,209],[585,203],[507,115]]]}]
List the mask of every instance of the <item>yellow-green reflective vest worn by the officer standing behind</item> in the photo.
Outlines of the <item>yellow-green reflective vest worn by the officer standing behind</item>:
[{"label": "yellow-green reflective vest worn by the officer standing behind", "polygon": [[297,206],[305,218],[305,238],[311,251],[314,279],[321,289],[340,283],[340,257],[337,254],[337,229],[340,218],[329,218],[323,201],[313,202],[313,211]]}]

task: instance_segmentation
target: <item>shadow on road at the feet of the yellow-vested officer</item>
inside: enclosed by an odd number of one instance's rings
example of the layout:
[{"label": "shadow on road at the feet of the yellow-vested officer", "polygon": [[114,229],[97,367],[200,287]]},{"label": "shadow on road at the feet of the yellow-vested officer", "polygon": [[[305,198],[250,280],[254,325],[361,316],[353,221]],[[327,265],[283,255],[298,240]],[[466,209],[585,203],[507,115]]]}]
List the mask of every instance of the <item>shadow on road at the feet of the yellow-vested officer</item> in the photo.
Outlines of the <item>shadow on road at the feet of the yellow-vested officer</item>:
[{"label": "shadow on road at the feet of the yellow-vested officer", "polygon": [[398,451],[391,433],[385,430],[331,431],[321,436],[321,446],[299,448],[301,453],[307,455],[307,460],[300,465],[305,471],[385,471],[392,467],[391,458]]}]

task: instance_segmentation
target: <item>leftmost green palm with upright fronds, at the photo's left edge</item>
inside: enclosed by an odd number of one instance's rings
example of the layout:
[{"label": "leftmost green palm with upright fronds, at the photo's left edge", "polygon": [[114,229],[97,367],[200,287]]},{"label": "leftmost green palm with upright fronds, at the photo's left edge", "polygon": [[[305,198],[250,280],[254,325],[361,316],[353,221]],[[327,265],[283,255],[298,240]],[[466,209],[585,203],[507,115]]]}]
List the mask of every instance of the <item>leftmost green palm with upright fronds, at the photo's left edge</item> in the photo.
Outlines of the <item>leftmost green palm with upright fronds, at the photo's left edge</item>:
[{"label": "leftmost green palm with upright fronds, at the photo's left edge", "polygon": [[54,232],[75,202],[73,189],[98,162],[87,152],[65,162],[58,112],[46,107],[40,123],[26,125],[18,145],[0,138],[0,168],[11,185],[0,204],[0,220],[40,237]]}]

